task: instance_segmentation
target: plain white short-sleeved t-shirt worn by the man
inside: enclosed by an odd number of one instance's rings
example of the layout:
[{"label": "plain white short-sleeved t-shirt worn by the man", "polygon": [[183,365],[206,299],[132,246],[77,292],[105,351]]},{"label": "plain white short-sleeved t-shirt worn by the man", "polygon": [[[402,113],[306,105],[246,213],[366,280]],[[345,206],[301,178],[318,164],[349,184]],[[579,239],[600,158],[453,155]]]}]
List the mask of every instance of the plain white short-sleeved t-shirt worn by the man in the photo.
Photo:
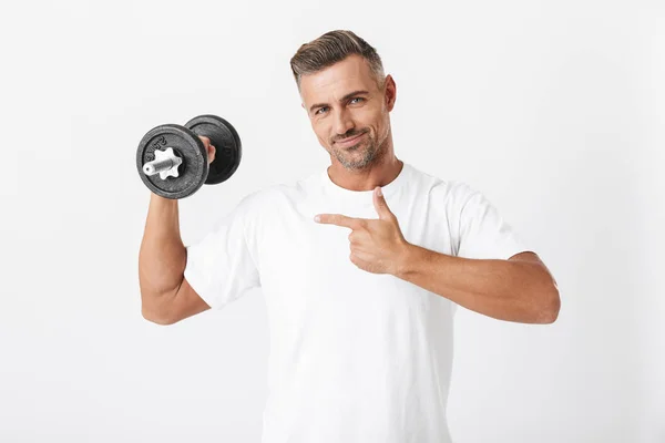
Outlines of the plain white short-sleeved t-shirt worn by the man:
[{"label": "plain white short-sleeved t-shirt worn by the man", "polygon": [[[528,250],[479,192],[405,163],[382,187],[407,241],[446,255]],[[187,247],[185,278],[219,309],[260,287],[269,322],[262,443],[448,443],[456,303],[356,267],[349,228],[316,214],[378,218],[372,190],[327,169],[249,194]]]}]

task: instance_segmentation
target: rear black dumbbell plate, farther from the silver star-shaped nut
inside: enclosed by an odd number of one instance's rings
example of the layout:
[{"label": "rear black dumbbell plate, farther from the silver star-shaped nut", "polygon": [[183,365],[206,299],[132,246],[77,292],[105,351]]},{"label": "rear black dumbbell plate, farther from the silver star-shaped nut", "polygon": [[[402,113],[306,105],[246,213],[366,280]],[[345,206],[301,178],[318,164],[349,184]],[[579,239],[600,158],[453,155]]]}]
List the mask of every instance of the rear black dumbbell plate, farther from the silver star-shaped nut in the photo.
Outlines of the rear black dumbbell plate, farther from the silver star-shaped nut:
[{"label": "rear black dumbbell plate, farther from the silver star-shaped nut", "polygon": [[231,123],[216,115],[200,115],[185,123],[185,127],[208,137],[215,146],[215,159],[209,164],[206,185],[222,183],[236,172],[243,150],[241,137]]}]

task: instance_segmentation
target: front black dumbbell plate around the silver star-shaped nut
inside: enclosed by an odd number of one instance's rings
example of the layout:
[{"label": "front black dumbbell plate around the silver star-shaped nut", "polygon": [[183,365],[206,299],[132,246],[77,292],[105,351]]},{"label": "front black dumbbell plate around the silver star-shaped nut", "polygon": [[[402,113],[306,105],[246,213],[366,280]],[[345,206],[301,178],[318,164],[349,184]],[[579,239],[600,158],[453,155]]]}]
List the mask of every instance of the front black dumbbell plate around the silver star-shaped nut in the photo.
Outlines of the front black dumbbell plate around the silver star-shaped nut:
[{"label": "front black dumbbell plate around the silver star-shaped nut", "polygon": [[[160,178],[143,173],[143,165],[155,159],[155,150],[172,147],[183,163],[178,166],[178,177]],[[139,143],[136,167],[141,179],[153,193],[165,198],[185,198],[203,186],[208,174],[205,145],[184,126],[165,124],[150,130]]]}]

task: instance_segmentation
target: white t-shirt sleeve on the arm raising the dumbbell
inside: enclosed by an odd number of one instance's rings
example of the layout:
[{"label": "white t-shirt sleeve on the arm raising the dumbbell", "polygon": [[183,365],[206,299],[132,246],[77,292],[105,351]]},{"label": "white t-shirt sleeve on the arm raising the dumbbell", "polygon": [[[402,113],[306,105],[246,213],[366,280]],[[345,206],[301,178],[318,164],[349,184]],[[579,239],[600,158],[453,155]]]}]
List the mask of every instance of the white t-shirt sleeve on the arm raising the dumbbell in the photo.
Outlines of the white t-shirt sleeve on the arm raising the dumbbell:
[{"label": "white t-shirt sleeve on the arm raising the dumbbell", "polygon": [[213,309],[260,287],[255,257],[247,243],[249,199],[224,216],[203,239],[187,246],[185,278]]}]

